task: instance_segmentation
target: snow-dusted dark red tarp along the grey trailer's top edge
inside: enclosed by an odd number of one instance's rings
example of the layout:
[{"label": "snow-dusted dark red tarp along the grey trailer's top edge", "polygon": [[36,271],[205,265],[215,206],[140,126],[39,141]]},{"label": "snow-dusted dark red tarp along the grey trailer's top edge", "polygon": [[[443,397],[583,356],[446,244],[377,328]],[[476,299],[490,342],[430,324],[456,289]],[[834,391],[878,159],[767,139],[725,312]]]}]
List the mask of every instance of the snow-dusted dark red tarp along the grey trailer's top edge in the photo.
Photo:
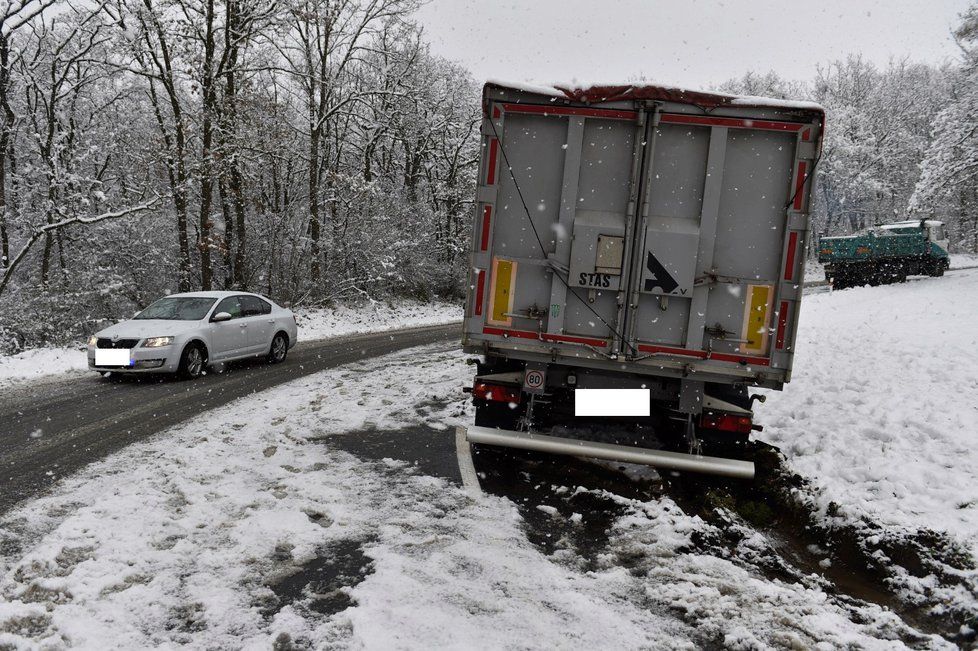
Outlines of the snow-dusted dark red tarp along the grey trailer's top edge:
[{"label": "snow-dusted dark red tarp along the grey trailer's top edge", "polygon": [[815,102],[755,97],[752,95],[728,95],[726,93],[691,90],[677,86],[658,86],[654,84],[595,84],[591,86],[555,84],[553,86],[541,86],[490,79],[486,81],[483,88],[483,97],[489,99],[490,92],[493,88],[516,90],[585,104],[628,100],[661,100],[694,104],[703,109],[720,107],[770,108],[801,111],[819,119],[824,119],[825,117],[825,109]]}]

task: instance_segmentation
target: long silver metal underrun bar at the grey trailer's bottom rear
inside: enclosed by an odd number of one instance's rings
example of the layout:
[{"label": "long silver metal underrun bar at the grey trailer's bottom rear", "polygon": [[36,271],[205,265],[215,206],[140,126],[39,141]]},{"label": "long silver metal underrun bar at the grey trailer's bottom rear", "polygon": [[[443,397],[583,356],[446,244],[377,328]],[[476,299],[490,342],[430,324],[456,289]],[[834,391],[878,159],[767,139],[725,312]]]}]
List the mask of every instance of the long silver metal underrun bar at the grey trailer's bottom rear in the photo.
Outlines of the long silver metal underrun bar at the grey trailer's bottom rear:
[{"label": "long silver metal underrun bar at the grey trailer's bottom rear", "polygon": [[707,475],[720,475],[736,479],[754,479],[754,463],[739,459],[705,457],[698,454],[683,454],[668,450],[651,450],[612,443],[581,441],[560,436],[514,432],[511,430],[490,429],[488,427],[468,427],[465,438],[469,443],[495,445],[504,448],[533,450],[550,454],[567,454],[575,457],[592,457],[609,461],[639,463],[656,468],[683,470]]}]

